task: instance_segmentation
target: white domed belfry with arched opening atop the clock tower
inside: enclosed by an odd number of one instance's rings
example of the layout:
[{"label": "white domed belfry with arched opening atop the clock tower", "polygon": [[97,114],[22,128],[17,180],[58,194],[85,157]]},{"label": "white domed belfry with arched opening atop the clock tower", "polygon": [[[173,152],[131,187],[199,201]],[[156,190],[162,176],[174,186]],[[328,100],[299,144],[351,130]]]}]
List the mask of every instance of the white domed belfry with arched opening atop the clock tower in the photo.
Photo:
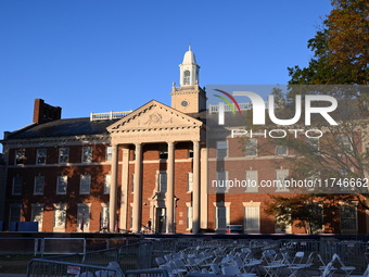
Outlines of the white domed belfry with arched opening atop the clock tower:
[{"label": "white domed belfry with arched opening atop the clock tower", "polygon": [[189,51],[184,53],[183,62],[179,65],[180,72],[180,86],[194,86],[199,85],[199,64],[196,64],[196,59],[194,53],[189,46]]}]

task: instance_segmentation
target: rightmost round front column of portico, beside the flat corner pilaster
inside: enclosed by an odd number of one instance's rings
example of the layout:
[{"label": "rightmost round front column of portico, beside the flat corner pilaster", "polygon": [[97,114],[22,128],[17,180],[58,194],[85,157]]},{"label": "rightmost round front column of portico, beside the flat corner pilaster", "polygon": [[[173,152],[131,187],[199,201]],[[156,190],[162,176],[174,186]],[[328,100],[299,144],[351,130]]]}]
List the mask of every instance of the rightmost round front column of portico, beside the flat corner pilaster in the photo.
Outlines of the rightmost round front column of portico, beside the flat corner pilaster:
[{"label": "rightmost round front column of portico, beside the flat corner pilaster", "polygon": [[192,232],[200,229],[200,141],[193,141],[193,192],[192,192],[193,223]]}]

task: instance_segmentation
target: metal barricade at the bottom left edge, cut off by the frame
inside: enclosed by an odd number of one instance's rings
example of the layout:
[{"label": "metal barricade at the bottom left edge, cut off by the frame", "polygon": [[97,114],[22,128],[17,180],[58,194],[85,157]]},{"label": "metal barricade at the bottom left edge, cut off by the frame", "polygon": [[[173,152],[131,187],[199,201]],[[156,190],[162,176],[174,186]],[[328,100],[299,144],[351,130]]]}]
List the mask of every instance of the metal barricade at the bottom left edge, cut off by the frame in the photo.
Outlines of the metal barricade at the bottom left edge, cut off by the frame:
[{"label": "metal barricade at the bottom left edge, cut off by the frame", "polygon": [[33,259],[27,267],[27,277],[76,277],[76,275],[124,277],[119,268],[44,259]]}]

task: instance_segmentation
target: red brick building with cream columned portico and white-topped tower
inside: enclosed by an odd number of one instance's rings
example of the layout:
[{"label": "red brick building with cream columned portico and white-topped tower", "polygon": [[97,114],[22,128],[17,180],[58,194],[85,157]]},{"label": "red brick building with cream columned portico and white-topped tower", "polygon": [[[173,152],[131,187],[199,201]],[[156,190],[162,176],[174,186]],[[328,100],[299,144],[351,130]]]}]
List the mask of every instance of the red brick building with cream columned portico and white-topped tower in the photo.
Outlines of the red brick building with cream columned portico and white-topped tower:
[{"label": "red brick building with cream columned portico and white-topped tower", "polygon": [[[227,179],[232,171],[256,182],[260,176],[282,179],[290,165],[276,166],[276,156],[254,148],[241,151],[238,139],[206,141],[199,70],[189,49],[171,106],[152,100],[135,111],[64,119],[61,108],[36,99],[33,124],[2,140],[5,226],[21,221],[38,222],[39,231],[140,231],[150,221],[156,232],[224,232],[228,225],[281,231],[264,211],[270,191],[209,188],[211,178]],[[341,215],[348,223],[343,232],[366,232],[367,215],[357,203]],[[304,232],[293,226],[283,231]]]}]

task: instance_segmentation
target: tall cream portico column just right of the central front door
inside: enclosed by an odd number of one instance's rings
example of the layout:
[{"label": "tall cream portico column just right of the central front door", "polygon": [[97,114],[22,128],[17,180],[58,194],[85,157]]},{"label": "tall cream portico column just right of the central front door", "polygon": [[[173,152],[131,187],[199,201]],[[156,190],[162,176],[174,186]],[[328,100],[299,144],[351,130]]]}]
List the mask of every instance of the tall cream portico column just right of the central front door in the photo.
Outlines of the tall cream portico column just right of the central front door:
[{"label": "tall cream portico column just right of the central front door", "polygon": [[166,205],[166,232],[175,232],[175,143],[168,143],[168,160],[167,160],[167,190],[165,196]]}]

